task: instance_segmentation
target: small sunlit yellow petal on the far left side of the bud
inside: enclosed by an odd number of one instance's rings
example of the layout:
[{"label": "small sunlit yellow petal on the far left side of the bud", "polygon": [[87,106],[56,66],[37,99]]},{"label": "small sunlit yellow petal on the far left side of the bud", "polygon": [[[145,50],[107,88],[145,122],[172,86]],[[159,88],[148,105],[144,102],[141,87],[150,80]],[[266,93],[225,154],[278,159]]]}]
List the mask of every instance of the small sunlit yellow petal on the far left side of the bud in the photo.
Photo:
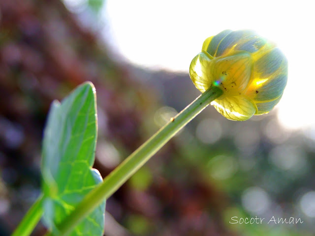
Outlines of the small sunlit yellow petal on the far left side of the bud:
[{"label": "small sunlit yellow petal on the far left side of the bud", "polygon": [[190,63],[190,79],[201,92],[206,91],[211,85],[210,63],[211,59],[204,52],[196,55]]}]

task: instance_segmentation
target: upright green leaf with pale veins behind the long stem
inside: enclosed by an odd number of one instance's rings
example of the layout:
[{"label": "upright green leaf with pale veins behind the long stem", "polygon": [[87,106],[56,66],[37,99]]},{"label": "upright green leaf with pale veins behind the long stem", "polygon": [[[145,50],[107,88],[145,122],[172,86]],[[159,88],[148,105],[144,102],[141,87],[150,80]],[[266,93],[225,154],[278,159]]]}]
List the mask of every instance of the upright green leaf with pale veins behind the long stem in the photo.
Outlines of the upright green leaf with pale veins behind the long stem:
[{"label": "upright green leaf with pale veins behind the long stem", "polygon": [[[42,175],[44,222],[58,235],[61,223],[83,197],[102,182],[96,169],[95,87],[77,87],[62,103],[54,101],[44,131]],[[105,201],[77,225],[70,236],[102,236]]]}]

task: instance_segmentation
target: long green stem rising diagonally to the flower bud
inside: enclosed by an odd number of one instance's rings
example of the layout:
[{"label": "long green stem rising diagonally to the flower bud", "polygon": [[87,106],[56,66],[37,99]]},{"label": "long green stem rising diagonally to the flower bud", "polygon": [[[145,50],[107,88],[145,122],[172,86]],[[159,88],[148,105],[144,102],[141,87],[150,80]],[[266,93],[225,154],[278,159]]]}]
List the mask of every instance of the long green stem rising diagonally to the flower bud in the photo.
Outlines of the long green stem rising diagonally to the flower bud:
[{"label": "long green stem rising diagonally to the flower bud", "polygon": [[[191,119],[198,115],[213,100],[221,96],[222,91],[212,87],[201,94],[176,117],[171,119],[164,127],[142,144],[136,151],[127,157],[104,182],[96,186],[68,215],[61,224],[57,225],[59,236],[66,236],[73,228],[93,211],[104,199],[110,197],[120,186],[142,167],[158,150],[180,131]],[[49,236],[51,234],[48,234]],[[47,235],[47,236],[48,236]]]}]

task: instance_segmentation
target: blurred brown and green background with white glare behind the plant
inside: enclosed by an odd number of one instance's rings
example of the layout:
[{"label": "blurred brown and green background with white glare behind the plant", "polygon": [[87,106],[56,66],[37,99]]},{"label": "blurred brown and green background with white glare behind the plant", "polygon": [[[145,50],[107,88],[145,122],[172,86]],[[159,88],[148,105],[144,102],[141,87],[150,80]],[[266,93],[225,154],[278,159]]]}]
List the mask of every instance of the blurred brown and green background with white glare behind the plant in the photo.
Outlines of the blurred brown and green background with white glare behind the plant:
[{"label": "blurred brown and green background with white glare behind the plant", "polygon": [[[289,61],[282,101],[229,121],[207,107],[106,205],[105,236],[315,235],[315,16],[308,1],[0,0],[0,235],[40,193],[54,99],[95,84],[95,168],[106,176],[200,92],[203,40],[250,28]],[[231,217],[266,218],[230,224]],[[302,224],[268,223],[301,218]],[[39,224],[33,236],[46,229]]]}]

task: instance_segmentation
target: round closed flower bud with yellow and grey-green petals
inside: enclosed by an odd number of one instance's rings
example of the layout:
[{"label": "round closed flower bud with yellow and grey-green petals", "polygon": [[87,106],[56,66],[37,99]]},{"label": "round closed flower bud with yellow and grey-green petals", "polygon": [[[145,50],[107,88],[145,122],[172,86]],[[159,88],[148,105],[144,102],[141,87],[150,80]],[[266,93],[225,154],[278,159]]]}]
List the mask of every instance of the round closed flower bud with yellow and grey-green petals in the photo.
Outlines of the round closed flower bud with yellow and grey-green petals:
[{"label": "round closed flower bud with yellow and grey-green petals", "polygon": [[190,64],[201,92],[212,86],[223,94],[211,105],[227,119],[245,121],[268,113],[280,101],[287,60],[273,44],[249,30],[224,30],[207,38]]}]

